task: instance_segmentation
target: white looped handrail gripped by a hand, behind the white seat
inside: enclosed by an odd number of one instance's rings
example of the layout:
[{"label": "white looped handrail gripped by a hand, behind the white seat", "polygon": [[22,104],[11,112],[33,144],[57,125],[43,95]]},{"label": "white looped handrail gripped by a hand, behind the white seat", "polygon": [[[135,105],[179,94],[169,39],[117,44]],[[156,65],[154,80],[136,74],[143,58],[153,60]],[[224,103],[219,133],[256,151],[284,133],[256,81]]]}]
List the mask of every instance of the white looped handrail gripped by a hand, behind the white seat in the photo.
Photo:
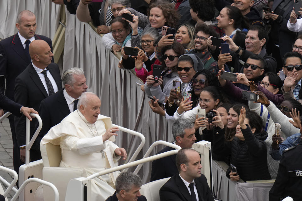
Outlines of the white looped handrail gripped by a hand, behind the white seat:
[{"label": "white looped handrail gripped by a hand, behind the white seat", "polygon": [[31,141],[29,141],[29,136],[30,136],[30,121],[28,118],[26,118],[26,123],[25,123],[25,132],[26,132],[26,137],[25,137],[25,145],[26,145],[26,150],[25,150],[25,164],[26,166],[29,165],[29,150],[31,149],[31,146],[34,144],[38,134],[40,133],[40,130],[42,128],[42,119],[39,115],[35,113],[30,113],[30,116],[36,117],[36,119],[39,122],[39,127],[37,128],[35,134],[32,136]]}]

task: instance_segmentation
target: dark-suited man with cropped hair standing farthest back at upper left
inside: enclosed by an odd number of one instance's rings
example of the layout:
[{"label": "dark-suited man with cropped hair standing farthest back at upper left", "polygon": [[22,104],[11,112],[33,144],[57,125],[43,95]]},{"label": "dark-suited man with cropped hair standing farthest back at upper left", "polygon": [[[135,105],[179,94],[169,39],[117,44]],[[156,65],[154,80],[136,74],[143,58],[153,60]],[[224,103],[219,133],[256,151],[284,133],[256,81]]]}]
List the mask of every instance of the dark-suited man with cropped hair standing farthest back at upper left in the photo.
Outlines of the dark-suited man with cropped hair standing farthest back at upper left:
[{"label": "dark-suited man with cropped hair standing farthest back at upper left", "polygon": [[[52,41],[43,35],[36,35],[36,16],[31,11],[23,10],[17,16],[16,27],[18,33],[0,41],[0,74],[6,78],[6,88],[3,94],[14,100],[14,86],[16,77],[31,63],[29,44],[37,39],[44,40],[52,49]],[[5,109],[5,108],[4,108]],[[4,114],[0,110],[0,116]],[[14,127],[14,115],[8,117],[13,138],[14,170],[18,172],[20,166],[20,148]]]}]

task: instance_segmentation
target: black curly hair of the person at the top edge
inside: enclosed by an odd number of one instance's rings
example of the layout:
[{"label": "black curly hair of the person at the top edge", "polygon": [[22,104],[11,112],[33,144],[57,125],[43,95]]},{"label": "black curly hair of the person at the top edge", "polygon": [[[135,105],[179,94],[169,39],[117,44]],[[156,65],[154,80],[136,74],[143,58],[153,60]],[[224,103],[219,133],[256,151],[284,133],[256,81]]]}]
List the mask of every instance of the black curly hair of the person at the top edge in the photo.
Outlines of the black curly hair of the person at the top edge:
[{"label": "black curly hair of the person at the top edge", "polygon": [[215,16],[215,4],[213,0],[189,0],[193,12],[202,21],[210,21]]}]

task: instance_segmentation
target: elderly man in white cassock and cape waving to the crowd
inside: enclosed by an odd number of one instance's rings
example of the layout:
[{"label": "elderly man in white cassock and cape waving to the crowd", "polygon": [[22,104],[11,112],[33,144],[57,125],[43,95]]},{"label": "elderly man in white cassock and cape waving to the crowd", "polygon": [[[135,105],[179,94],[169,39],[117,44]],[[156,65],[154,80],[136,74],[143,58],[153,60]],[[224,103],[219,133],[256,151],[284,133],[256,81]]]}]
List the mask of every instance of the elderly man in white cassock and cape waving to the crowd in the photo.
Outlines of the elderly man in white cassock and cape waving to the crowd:
[{"label": "elderly man in white cassock and cape waving to the crowd", "polygon": [[[41,140],[42,144],[60,145],[62,161],[60,167],[83,168],[87,176],[105,168],[118,166],[117,161],[126,150],[119,148],[110,117],[100,115],[101,100],[92,92],[80,96],[78,109],[54,126]],[[115,189],[119,172],[96,177],[92,181],[92,200],[106,200]],[[110,186],[109,186],[109,185]]]}]

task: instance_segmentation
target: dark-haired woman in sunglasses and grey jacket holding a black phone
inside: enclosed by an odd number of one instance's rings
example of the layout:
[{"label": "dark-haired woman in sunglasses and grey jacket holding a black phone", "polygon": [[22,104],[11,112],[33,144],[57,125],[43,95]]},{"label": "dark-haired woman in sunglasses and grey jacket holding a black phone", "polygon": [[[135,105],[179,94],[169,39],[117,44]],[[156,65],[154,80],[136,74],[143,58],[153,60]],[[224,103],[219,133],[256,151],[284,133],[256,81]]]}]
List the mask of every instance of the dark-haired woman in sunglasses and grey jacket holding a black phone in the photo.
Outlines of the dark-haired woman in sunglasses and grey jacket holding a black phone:
[{"label": "dark-haired woman in sunglasses and grey jacket holding a black phone", "polygon": [[183,46],[176,41],[174,41],[171,46],[165,46],[163,48],[164,61],[162,62],[161,77],[158,83],[155,83],[153,75],[147,77],[144,85],[147,95],[155,96],[159,99],[159,102],[165,102],[165,97],[169,96],[170,90],[172,89],[173,80],[181,81],[177,73],[177,63],[178,58],[184,53],[185,50]]}]

